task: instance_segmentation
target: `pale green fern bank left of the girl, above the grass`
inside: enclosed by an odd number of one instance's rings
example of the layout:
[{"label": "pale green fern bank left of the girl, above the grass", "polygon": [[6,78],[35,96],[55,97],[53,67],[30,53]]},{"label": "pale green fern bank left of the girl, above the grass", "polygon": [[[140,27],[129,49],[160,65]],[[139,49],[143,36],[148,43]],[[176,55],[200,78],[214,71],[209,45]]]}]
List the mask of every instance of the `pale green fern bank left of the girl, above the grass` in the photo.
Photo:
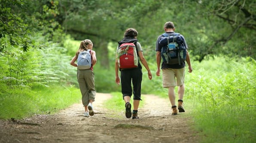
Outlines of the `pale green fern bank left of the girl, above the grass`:
[{"label": "pale green fern bank left of the girl, above the grass", "polygon": [[[70,56],[61,53],[63,50],[61,47],[52,46],[28,52],[12,49],[12,56],[2,53],[0,81],[9,89],[69,82],[69,74],[74,73],[70,70]],[[5,92],[7,91],[3,91]]]}]

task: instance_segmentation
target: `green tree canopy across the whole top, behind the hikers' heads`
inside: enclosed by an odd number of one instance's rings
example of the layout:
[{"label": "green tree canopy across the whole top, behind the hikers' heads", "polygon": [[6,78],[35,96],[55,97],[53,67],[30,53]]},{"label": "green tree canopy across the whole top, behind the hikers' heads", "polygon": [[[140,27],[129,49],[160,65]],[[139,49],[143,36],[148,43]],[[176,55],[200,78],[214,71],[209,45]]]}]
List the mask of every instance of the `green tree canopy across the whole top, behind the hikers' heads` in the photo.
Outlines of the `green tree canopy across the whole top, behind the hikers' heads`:
[{"label": "green tree canopy across the whole top, behind the hikers' heads", "polygon": [[76,40],[91,39],[108,67],[107,45],[121,40],[125,29],[137,29],[143,49],[154,56],[164,23],[173,21],[194,60],[219,54],[256,58],[255,7],[255,0],[1,0],[0,50],[6,43],[27,50],[33,43],[29,31],[61,42],[55,32],[62,26]]}]

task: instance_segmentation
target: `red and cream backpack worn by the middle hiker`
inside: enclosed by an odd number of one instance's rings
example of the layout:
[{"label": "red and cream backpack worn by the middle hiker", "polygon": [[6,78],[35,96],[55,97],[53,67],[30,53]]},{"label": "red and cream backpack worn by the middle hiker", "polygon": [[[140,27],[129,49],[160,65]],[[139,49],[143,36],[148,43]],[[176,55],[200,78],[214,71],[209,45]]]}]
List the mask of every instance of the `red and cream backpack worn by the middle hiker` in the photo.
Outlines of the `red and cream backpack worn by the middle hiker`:
[{"label": "red and cream backpack worn by the middle hiker", "polygon": [[138,67],[139,59],[137,55],[136,42],[123,43],[116,50],[116,58],[119,64],[119,68],[135,68]]}]

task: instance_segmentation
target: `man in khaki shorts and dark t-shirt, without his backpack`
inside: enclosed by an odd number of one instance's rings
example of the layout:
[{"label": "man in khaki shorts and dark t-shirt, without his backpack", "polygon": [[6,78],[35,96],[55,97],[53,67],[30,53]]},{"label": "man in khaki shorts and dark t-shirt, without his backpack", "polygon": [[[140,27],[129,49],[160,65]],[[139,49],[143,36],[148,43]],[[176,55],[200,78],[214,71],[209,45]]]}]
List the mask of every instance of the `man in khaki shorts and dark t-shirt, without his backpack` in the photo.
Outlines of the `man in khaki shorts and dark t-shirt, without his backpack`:
[{"label": "man in khaki shorts and dark t-shirt, without his backpack", "polygon": [[[164,26],[165,29],[165,35],[181,35],[179,33],[175,33],[175,27],[174,23],[171,21],[168,21],[165,23]],[[183,37],[183,35],[181,35]],[[160,63],[161,63],[161,50],[162,46],[159,44],[160,38],[164,37],[163,35],[159,35],[156,41],[156,63],[157,63],[157,71],[156,71],[156,76],[160,76]],[[184,38],[184,37],[183,37]],[[186,49],[188,49],[185,38],[184,38],[184,45]],[[189,73],[192,72],[192,67],[190,64],[190,57],[189,53],[186,50],[186,62],[189,66]],[[163,71],[163,87],[168,88],[168,96],[171,102],[171,108],[172,108],[172,115],[177,115],[177,106],[175,104],[175,92],[174,88],[175,86],[178,86],[178,109],[179,112],[185,112],[183,108],[183,96],[184,96],[184,91],[185,91],[185,86],[184,86],[184,80],[185,80],[185,61],[183,61],[180,64],[167,64],[165,62],[162,62],[162,71]]]}]

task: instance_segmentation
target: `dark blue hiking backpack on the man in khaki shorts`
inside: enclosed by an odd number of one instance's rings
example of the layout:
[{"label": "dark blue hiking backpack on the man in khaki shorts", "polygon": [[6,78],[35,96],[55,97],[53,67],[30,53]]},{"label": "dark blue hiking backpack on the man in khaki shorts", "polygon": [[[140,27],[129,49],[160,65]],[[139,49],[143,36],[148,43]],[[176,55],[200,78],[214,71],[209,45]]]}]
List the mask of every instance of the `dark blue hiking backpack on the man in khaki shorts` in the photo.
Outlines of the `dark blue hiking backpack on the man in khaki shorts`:
[{"label": "dark blue hiking backpack on the man in khaki shorts", "polygon": [[181,64],[186,61],[186,46],[185,39],[179,33],[168,35],[162,34],[159,40],[162,46],[161,56],[166,64]]}]

